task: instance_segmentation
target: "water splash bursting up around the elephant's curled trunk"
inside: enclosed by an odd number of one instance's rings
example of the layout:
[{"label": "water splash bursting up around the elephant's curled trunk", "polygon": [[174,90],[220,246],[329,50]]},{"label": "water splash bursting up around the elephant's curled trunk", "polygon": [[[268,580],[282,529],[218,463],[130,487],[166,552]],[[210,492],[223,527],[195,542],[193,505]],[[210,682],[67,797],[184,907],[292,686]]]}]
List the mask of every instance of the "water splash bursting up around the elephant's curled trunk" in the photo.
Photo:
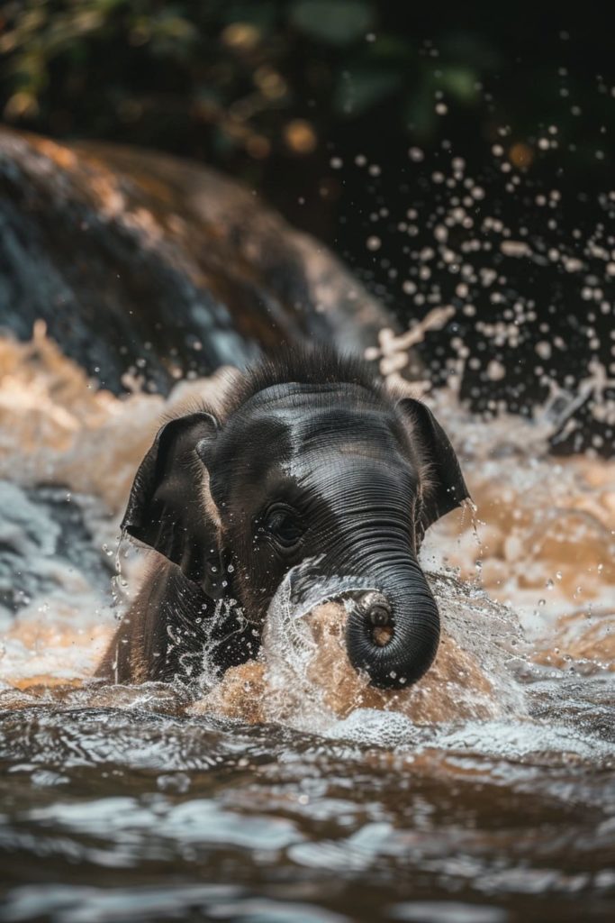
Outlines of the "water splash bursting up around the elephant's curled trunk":
[{"label": "water splash bursting up around the elephant's curled trunk", "polygon": [[[257,663],[229,671],[193,713],[221,707],[243,720],[326,736],[336,736],[347,726],[339,718],[366,708],[403,714],[414,725],[526,714],[524,690],[514,675],[515,666],[526,665],[521,630],[514,614],[494,605],[485,593],[474,590],[470,603],[457,581],[432,575],[445,626],[436,661],[420,682],[390,692],[373,689],[367,677],[357,675],[344,641],[350,594],[377,587],[361,577],[315,580],[314,565],[317,561],[304,561],[280,584],[269,606]],[[373,718],[369,726],[366,739],[375,739]]]}]

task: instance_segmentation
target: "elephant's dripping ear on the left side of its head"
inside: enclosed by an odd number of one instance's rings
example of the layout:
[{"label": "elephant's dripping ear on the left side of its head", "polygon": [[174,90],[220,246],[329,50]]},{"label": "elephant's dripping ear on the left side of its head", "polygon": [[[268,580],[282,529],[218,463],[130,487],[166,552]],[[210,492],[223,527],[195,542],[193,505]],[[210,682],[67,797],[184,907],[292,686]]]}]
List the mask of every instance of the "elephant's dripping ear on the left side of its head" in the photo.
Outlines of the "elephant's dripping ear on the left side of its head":
[{"label": "elephant's dripping ear on the left side of its head", "polygon": [[162,426],[136,472],[122,521],[126,533],[177,564],[213,598],[221,594],[219,519],[200,454],[218,430],[206,413]]}]

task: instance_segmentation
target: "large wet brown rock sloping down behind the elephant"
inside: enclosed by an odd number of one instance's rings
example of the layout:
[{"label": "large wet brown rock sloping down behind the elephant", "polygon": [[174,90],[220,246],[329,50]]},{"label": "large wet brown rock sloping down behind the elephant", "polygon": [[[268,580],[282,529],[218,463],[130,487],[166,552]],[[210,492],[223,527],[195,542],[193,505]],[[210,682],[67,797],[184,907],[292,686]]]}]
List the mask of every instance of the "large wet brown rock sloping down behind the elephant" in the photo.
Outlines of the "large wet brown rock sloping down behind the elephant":
[{"label": "large wet brown rock sloping down behind the elephant", "polygon": [[[0,129],[0,328],[42,319],[116,393],[286,343],[362,350],[392,326],[323,246],[212,170]],[[395,326],[395,325],[393,325]]]}]

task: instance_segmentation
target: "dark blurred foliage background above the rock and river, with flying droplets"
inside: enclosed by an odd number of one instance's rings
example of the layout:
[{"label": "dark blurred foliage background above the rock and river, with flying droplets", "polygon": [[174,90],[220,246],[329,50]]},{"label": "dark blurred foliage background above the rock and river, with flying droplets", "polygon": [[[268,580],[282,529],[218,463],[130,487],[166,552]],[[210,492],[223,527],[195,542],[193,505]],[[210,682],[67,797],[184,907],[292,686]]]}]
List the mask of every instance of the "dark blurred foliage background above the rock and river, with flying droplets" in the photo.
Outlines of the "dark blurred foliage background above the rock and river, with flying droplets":
[{"label": "dark blurred foliage background above the rock and river, with flying droplets", "polygon": [[9,2],[0,105],[242,179],[404,325],[455,307],[421,347],[436,383],[461,348],[477,410],[585,390],[558,446],[609,453],[586,381],[615,378],[614,33],[586,6]]}]

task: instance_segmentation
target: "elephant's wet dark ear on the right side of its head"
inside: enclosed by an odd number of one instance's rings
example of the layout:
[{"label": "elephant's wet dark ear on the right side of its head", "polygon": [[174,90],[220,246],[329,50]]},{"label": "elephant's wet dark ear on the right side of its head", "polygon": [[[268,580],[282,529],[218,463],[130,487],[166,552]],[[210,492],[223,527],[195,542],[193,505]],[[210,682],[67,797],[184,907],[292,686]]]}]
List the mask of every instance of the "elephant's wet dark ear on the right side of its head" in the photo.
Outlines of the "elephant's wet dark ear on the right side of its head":
[{"label": "elephant's wet dark ear on the right side of its head", "polygon": [[433,522],[460,506],[470,495],[455,449],[429,407],[412,398],[403,398],[397,408],[409,421],[412,436],[419,441],[422,460],[428,466],[430,489],[423,497],[420,513],[425,533]]}]

